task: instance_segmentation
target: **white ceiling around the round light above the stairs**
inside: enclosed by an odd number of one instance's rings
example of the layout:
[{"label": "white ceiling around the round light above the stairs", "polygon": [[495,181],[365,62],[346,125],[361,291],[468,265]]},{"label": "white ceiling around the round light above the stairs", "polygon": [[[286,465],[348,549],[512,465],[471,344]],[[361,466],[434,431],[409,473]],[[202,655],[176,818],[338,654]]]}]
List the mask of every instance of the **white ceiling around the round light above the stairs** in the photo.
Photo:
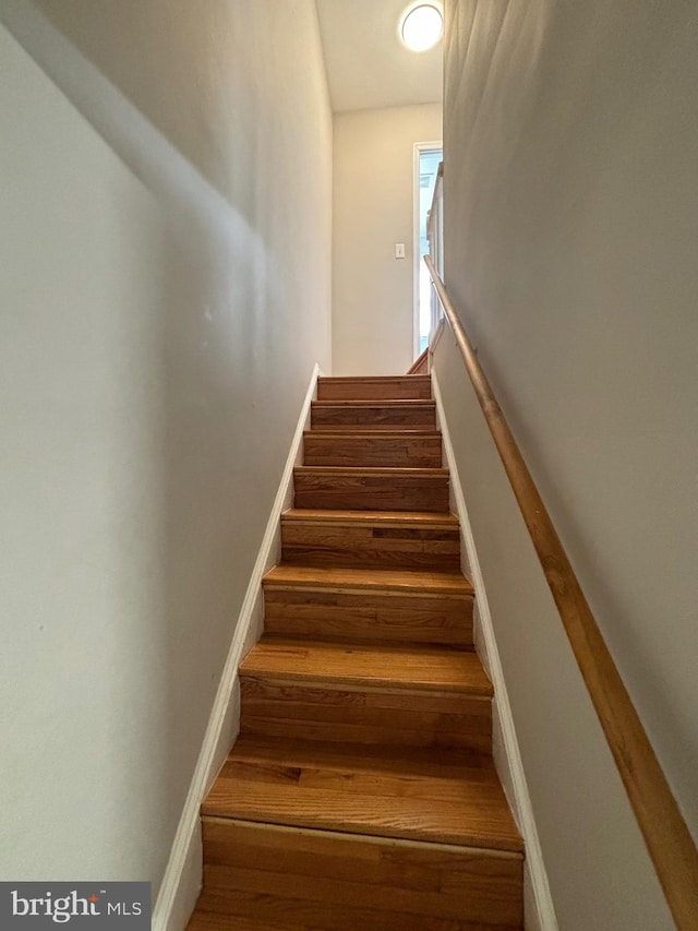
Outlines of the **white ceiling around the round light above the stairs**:
[{"label": "white ceiling around the round light above the stairs", "polygon": [[441,103],[442,43],[408,51],[398,23],[409,0],[315,0],[333,110]]}]

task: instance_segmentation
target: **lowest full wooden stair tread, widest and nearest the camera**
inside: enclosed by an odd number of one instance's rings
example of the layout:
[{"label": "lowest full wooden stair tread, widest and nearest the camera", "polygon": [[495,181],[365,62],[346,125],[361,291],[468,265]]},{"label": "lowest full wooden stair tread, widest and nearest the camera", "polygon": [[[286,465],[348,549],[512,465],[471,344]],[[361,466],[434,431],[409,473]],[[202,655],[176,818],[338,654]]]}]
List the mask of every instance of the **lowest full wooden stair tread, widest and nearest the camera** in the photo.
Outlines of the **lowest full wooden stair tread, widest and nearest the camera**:
[{"label": "lowest full wooden stair tread, widest and nearest the camera", "polygon": [[443,751],[240,738],[202,807],[232,817],[520,854],[492,764]]}]

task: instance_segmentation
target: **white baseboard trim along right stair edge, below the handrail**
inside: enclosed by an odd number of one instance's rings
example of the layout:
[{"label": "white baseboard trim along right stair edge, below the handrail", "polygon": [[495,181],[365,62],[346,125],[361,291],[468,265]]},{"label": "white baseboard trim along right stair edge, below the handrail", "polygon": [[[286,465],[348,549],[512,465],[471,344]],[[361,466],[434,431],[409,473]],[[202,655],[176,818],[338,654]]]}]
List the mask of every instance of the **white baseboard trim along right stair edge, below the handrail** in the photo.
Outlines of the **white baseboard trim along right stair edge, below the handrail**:
[{"label": "white baseboard trim along right stair edge, below the handrail", "polygon": [[[458,476],[456,456],[450,440],[450,433],[448,431],[448,422],[446,420],[441,390],[438,387],[438,379],[436,377],[436,372],[433,370],[431,375],[438,423],[444,443],[446,465],[450,473],[452,500],[460,521],[461,542],[476,593],[476,645],[488,669],[490,678],[492,679],[492,684],[494,685],[495,763],[497,764],[497,769],[502,774],[502,781],[505,790],[507,790],[507,795],[512,795],[509,803],[516,814],[516,820],[526,847],[526,928],[528,931],[558,931],[557,918],[555,916],[555,908],[550,893],[547,873],[545,872],[543,854],[538,837],[538,828],[533,817],[533,809],[531,807],[528,784],[526,781],[526,774],[524,772],[524,764],[516,737],[512,705],[509,704],[509,696],[507,693],[506,682],[504,680],[504,671],[502,669],[500,652],[497,649],[496,638],[494,635],[492,616],[490,613],[488,595],[484,587],[482,571],[480,569],[478,551],[472,535],[472,527],[468,517],[466,499],[462,492],[460,478]],[[500,740],[496,739],[497,731]]]}]

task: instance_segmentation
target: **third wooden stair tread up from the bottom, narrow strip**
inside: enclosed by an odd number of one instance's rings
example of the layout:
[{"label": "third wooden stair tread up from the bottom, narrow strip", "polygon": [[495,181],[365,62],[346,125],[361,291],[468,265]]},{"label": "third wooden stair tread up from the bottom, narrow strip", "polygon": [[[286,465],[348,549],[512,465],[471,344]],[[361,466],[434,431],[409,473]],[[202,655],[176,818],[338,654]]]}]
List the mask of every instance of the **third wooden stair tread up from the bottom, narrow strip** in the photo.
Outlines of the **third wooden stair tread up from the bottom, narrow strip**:
[{"label": "third wooden stair tread up from the bottom, narrow strip", "polygon": [[410,595],[444,595],[471,598],[472,583],[460,572],[412,572],[389,569],[334,569],[306,565],[280,565],[263,578],[268,587],[323,589],[370,589],[405,592]]}]

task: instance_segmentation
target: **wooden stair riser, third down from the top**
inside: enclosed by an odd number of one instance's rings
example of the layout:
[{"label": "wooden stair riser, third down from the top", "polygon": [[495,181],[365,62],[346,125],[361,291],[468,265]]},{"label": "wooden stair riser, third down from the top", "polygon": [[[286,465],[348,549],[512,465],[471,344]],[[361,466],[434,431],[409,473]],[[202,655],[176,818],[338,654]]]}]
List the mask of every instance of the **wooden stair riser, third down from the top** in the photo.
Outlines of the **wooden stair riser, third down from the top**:
[{"label": "wooden stair riser, third down from the top", "polygon": [[[377,432],[377,431],[376,431]],[[440,468],[441,437],[335,437],[304,439],[305,465],[387,466],[393,468]]]}]

